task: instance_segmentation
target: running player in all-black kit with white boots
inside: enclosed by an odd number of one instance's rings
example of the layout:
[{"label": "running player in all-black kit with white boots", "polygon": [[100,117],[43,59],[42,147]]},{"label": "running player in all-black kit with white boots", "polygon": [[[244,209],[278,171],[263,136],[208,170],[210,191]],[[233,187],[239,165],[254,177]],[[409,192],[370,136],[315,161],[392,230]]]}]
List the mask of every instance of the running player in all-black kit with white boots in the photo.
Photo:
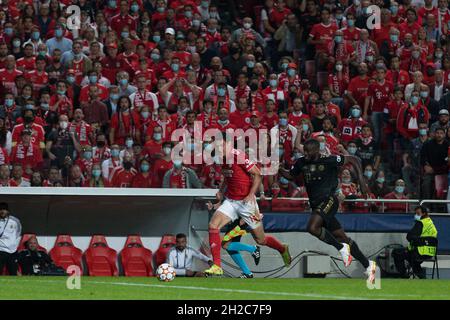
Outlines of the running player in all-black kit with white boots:
[{"label": "running player in all-black kit with white boots", "polygon": [[366,269],[370,283],[375,282],[375,261],[369,261],[359,250],[358,245],[347,237],[335,215],[339,208],[338,173],[351,157],[322,156],[320,144],[310,139],[304,144],[304,156],[297,159],[291,170],[280,169],[280,173],[288,179],[303,174],[306,191],[311,206],[311,218],[307,230],[313,236],[335,247],[341,254],[346,267],[350,266],[352,256]]}]

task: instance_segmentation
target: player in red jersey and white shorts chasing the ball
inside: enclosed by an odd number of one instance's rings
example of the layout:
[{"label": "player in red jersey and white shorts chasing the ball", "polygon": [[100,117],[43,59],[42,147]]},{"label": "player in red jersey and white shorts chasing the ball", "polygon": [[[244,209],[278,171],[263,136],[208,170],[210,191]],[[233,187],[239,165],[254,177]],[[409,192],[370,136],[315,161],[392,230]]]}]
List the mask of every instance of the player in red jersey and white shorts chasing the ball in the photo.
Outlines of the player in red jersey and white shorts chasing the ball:
[{"label": "player in red jersey and white shorts chasing the ball", "polygon": [[[247,223],[256,243],[266,245],[280,252],[285,265],[289,266],[292,260],[289,254],[289,247],[282,244],[275,237],[264,233],[255,197],[255,193],[261,184],[261,172],[256,163],[250,161],[242,151],[234,149],[232,141],[224,141],[223,149],[226,155],[226,162],[232,160],[232,163],[224,162],[222,165],[222,174],[225,177],[225,181],[216,195],[219,203],[214,205],[216,212],[209,222],[209,244],[214,265],[205,270],[205,274],[223,275],[220,258],[220,229],[237,219],[242,219]],[[225,187],[226,192],[223,193]],[[220,205],[222,199],[224,201]]]}]

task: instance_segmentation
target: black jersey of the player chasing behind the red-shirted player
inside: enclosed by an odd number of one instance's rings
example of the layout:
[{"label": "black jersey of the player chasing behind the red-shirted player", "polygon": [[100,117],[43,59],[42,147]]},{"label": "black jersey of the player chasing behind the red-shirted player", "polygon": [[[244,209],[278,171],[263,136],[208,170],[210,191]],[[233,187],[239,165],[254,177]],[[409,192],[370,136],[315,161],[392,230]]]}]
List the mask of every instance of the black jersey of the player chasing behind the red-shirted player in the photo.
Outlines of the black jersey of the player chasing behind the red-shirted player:
[{"label": "black jersey of the player chasing behind the red-shirted player", "polygon": [[297,159],[291,168],[291,176],[303,174],[309,203],[312,208],[333,196],[338,187],[339,167],[344,164],[341,156],[321,156],[317,160]]}]

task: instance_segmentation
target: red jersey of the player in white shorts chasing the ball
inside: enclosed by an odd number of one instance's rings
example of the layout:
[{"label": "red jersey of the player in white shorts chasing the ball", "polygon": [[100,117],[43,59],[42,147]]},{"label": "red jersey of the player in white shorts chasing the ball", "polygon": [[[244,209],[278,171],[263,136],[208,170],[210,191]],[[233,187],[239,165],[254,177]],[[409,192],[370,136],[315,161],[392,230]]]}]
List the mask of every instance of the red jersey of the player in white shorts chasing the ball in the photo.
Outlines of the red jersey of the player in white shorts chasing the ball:
[{"label": "red jersey of the player in white shorts chasing the ball", "polygon": [[[236,149],[231,151],[230,156],[233,156],[233,163],[222,165],[222,173],[227,185],[225,197],[232,200],[242,200],[250,193],[253,180],[249,171],[256,164],[251,162],[245,153]],[[244,163],[238,164],[238,161]]]}]

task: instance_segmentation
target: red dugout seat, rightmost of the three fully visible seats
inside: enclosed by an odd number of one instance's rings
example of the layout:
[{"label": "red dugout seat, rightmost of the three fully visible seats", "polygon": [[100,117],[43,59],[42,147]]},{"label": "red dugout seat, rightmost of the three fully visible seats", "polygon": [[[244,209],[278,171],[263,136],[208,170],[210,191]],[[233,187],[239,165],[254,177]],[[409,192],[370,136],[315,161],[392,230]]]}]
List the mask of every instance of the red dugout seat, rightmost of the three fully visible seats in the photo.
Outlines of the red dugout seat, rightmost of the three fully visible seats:
[{"label": "red dugout seat, rightmost of the three fully visible seats", "polygon": [[144,248],[138,235],[128,236],[120,252],[120,260],[126,277],[153,276],[152,252]]}]

